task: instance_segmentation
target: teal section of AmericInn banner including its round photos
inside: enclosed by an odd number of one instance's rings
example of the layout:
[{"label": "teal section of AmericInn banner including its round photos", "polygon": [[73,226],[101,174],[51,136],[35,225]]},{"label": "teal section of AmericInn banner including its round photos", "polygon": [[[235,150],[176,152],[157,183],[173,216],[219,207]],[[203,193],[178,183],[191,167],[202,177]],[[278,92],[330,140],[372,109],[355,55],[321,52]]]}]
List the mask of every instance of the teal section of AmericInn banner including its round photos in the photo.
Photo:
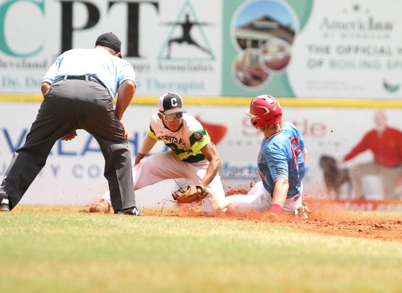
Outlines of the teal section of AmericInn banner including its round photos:
[{"label": "teal section of AmericInn banner including its round photos", "polygon": [[313,0],[226,0],[223,95],[294,97],[286,67]]}]

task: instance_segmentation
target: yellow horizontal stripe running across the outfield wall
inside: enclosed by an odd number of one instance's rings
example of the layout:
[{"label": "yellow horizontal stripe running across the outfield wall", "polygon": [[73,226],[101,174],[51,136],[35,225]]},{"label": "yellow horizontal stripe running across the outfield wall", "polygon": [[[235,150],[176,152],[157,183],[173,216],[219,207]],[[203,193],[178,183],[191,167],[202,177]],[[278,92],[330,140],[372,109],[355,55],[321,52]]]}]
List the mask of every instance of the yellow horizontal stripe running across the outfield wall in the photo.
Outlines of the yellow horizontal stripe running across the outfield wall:
[{"label": "yellow horizontal stripe running across the outfield wall", "polygon": [[[158,96],[134,96],[131,104],[157,105]],[[42,95],[0,94],[0,102],[41,102]],[[186,97],[184,105],[248,106],[245,97]],[[287,107],[402,108],[402,100],[278,98]]]}]

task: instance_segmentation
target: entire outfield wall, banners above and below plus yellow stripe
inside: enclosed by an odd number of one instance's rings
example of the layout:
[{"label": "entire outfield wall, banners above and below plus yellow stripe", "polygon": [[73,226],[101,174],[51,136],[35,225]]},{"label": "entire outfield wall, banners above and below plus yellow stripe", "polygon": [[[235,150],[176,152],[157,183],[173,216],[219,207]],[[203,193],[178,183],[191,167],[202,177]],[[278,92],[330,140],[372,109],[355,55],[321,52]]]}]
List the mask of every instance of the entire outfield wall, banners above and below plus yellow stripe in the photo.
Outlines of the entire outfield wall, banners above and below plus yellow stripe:
[{"label": "entire outfield wall, banners above and below plus yellow stripe", "polygon": [[[60,53],[91,48],[113,31],[138,79],[125,115],[133,157],[157,97],[177,92],[220,139],[226,188],[247,187],[260,140],[244,115],[250,97],[287,97],[280,99],[285,119],[309,149],[306,190],[320,194],[319,158],[348,152],[377,109],[402,128],[401,9],[395,0],[0,0],[0,177],[35,118],[46,70]],[[58,141],[24,202],[91,200],[107,188],[102,170],[98,145],[85,132]],[[161,198],[175,187],[166,184],[156,188]],[[381,195],[377,178],[366,185]],[[156,201],[147,192],[138,192],[144,205]]]}]

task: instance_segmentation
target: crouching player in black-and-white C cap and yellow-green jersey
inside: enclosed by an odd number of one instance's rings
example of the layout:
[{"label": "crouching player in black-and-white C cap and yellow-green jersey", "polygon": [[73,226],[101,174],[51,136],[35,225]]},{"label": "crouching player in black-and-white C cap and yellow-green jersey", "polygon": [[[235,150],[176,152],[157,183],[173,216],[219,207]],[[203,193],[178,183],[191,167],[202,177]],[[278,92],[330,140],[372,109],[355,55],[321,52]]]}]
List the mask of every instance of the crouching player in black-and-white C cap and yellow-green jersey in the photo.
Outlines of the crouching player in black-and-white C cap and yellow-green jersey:
[{"label": "crouching player in black-and-white C cap and yellow-green jersey", "polygon": [[[133,167],[134,190],[165,179],[189,178],[208,194],[202,209],[209,215],[225,210],[226,198],[218,175],[221,159],[204,127],[185,114],[179,95],[168,93],[159,98],[158,112],[150,120]],[[171,150],[145,157],[156,141]],[[208,192],[208,193],[207,193]],[[102,198],[110,205],[110,193]]]}]

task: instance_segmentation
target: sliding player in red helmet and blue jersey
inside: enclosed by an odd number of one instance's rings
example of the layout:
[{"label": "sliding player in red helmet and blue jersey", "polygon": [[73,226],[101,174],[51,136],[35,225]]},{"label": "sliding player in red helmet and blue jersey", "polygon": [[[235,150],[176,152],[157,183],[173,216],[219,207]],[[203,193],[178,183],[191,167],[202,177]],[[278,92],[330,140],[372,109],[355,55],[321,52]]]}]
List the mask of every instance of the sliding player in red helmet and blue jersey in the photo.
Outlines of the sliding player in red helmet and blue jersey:
[{"label": "sliding player in red helmet and blue jersey", "polygon": [[282,108],[272,96],[253,98],[246,114],[264,134],[257,160],[262,181],[248,195],[228,196],[228,211],[283,211],[307,218],[302,195],[307,150],[302,134],[282,120]]}]

